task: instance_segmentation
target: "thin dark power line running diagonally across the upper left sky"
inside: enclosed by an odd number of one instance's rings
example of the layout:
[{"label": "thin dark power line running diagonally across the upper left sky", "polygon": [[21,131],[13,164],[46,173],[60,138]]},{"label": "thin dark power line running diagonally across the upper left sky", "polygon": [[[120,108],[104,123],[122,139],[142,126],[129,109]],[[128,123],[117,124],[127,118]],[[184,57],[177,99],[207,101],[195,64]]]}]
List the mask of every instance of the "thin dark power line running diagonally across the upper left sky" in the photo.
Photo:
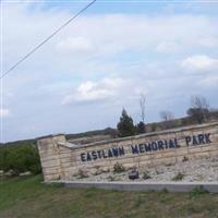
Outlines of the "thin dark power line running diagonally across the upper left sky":
[{"label": "thin dark power line running diagonally across the upper left sky", "polygon": [[94,4],[97,0],[92,1],[88,3],[85,8],[83,8],[81,11],[78,11],[74,16],[72,16],[70,20],[68,20],[64,24],[62,24],[59,28],[57,28],[50,36],[48,36],[45,40],[43,40],[40,44],[38,44],[33,50],[31,50],[28,53],[26,53],[21,60],[19,60],[14,65],[12,65],[5,73],[3,73],[0,78],[3,78],[7,74],[9,74],[12,70],[14,70],[20,63],[22,63],[25,59],[27,59],[29,56],[32,56],[36,50],[38,50],[44,44],[46,44],[48,40],[50,40],[56,34],[58,34],[63,27],[65,27],[68,24],[70,24],[73,20],[75,20],[80,14],[82,14],[85,10],[87,10],[92,4]]}]

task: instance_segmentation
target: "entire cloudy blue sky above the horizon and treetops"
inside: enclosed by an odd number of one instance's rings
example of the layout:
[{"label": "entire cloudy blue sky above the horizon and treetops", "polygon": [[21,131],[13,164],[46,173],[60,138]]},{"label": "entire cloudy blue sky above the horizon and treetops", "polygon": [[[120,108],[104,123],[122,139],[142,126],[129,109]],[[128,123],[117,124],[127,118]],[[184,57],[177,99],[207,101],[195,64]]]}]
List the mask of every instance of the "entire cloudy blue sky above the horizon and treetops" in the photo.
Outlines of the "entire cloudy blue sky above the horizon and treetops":
[{"label": "entire cloudy blue sky above the horizon and treetops", "polygon": [[[1,74],[89,1],[1,1]],[[1,138],[116,128],[191,96],[218,108],[218,1],[97,0],[1,81]]]}]

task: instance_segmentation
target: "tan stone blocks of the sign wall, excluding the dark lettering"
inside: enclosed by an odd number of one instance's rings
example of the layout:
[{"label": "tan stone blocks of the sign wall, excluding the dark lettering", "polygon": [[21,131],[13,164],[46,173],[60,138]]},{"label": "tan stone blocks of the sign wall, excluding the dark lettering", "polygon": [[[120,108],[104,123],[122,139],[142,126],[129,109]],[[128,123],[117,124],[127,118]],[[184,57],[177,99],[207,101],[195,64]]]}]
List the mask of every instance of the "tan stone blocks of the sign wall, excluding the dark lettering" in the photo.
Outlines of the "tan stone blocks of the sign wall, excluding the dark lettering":
[{"label": "tan stone blocks of the sign wall, excluding the dark lettering", "polygon": [[[186,146],[185,136],[207,133],[210,133],[211,143],[197,146]],[[181,147],[134,155],[131,153],[130,145],[171,138],[178,138]],[[96,142],[82,146],[71,146],[71,144],[65,141],[64,135],[39,138],[37,144],[45,181],[73,180],[75,174],[80,174],[80,177],[83,178],[86,177],[86,173],[98,174],[99,171],[111,171],[117,162],[126,169],[133,167],[140,169],[143,169],[143,167],[157,169],[160,167],[160,171],[162,166],[174,165],[175,167],[172,169],[172,172],[175,172],[178,170],[177,166],[180,167],[180,162],[182,162],[184,158],[189,159],[187,162],[190,162],[202,158],[208,158],[209,161],[211,161],[210,158],[218,157],[218,122]],[[109,149],[112,147],[124,147],[125,155],[105,159],[101,158],[86,162],[81,161],[82,153]],[[202,160],[196,164],[196,167],[201,164]],[[197,171],[193,166],[195,166],[194,162],[189,166],[184,165],[184,168]],[[217,170],[217,168],[215,169]],[[158,178],[154,175],[154,181],[155,180],[158,180]]]}]

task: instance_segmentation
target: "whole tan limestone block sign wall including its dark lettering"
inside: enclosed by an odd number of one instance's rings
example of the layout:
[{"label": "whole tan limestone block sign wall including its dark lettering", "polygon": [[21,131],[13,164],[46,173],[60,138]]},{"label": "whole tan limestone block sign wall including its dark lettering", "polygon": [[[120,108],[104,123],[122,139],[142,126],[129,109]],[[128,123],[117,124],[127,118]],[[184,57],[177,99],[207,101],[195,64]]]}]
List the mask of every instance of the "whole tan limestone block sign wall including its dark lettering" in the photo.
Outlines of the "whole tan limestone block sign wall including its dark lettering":
[{"label": "whole tan limestone block sign wall including its dark lettering", "polygon": [[78,171],[125,168],[218,157],[218,122],[76,146],[64,135],[37,142],[45,181],[71,180]]}]

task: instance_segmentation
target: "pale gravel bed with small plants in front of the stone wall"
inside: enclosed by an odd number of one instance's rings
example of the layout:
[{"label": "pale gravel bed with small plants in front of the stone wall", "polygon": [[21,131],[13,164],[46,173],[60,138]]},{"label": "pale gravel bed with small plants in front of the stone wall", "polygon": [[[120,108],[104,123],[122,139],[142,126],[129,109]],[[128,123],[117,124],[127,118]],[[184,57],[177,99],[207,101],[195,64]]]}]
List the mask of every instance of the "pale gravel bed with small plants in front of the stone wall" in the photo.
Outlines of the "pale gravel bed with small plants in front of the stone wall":
[{"label": "pale gravel bed with small plants in front of the stone wall", "polygon": [[[140,179],[134,181],[184,181],[184,182],[215,182],[218,181],[218,157],[186,160],[174,165],[162,165],[156,167],[141,167],[137,169]],[[102,172],[97,175],[86,173],[73,175],[72,181],[132,181],[129,179],[130,170],[124,172]],[[180,177],[178,177],[180,174]],[[144,179],[143,179],[144,178]],[[179,178],[179,179],[178,179]]]}]

